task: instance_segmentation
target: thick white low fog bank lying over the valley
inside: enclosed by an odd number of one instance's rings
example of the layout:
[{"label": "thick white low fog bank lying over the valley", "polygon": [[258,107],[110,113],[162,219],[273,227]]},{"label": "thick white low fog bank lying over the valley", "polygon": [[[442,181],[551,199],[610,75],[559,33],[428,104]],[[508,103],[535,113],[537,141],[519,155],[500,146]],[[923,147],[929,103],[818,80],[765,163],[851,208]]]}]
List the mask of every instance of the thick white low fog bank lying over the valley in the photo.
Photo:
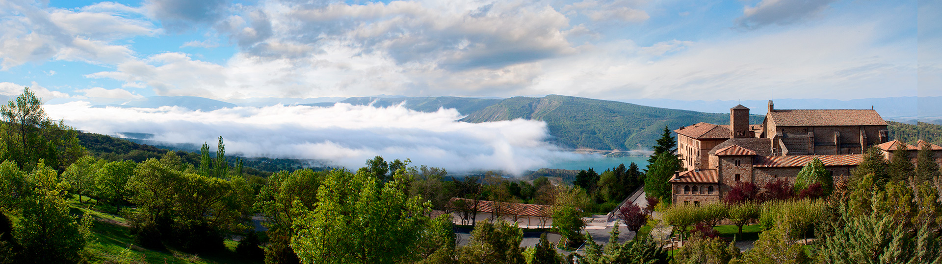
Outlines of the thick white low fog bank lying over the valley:
[{"label": "thick white low fog bank lying over the valley", "polygon": [[[77,130],[102,134],[140,132],[172,144],[224,138],[226,152],[247,157],[313,159],[359,168],[376,155],[411,159],[456,173],[502,170],[519,175],[557,162],[593,159],[546,143],[543,121],[459,122],[454,109],[423,113],[402,105],[374,107],[235,107],[190,111],[180,107],[94,108],[87,101],[45,106],[49,116]],[[214,147],[215,148],[215,147]]]}]

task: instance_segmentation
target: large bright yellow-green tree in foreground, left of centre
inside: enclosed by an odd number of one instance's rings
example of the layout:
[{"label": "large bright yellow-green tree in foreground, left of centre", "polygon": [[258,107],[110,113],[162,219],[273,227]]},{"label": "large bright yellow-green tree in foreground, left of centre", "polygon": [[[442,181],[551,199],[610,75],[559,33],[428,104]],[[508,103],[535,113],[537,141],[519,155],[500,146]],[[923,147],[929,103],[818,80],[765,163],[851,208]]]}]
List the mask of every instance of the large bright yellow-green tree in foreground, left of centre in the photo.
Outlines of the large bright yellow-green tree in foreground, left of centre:
[{"label": "large bright yellow-green tree in foreground, left of centre", "polygon": [[429,223],[430,204],[409,196],[405,175],[395,174],[382,187],[379,180],[366,170],[333,170],[317,191],[317,208],[295,202],[301,217],[291,247],[302,262],[417,260],[414,248]]}]

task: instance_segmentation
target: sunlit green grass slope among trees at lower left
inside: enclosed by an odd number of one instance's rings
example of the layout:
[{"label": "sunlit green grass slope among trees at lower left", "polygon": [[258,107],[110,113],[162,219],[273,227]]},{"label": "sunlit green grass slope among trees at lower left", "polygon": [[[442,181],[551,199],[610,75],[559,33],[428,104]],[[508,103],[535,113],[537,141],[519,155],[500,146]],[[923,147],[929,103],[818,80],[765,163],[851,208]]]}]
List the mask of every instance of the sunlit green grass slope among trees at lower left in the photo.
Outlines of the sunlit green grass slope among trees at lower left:
[{"label": "sunlit green grass slope among trees at lower left", "polygon": [[93,200],[79,203],[73,197],[68,200],[68,203],[74,215],[89,213],[95,218],[91,229],[95,239],[88,248],[92,257],[91,263],[263,263],[261,259],[251,259],[235,254],[235,245],[238,242],[229,239],[223,241],[224,249],[195,255],[173,248],[140,247],[134,244],[130,227],[121,216],[97,209]]}]

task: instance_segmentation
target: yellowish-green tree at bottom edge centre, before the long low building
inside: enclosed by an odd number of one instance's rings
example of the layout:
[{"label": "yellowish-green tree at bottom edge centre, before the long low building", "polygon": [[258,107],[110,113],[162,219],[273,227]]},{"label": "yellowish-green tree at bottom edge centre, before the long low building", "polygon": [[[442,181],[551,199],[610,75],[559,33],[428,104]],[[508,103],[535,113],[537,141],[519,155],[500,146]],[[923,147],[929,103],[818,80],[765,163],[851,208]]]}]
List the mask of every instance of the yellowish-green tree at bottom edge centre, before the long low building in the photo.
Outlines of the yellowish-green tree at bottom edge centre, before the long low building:
[{"label": "yellowish-green tree at bottom edge centre, before the long low building", "polygon": [[481,223],[471,231],[471,241],[459,248],[458,263],[523,264],[523,231],[506,221]]}]

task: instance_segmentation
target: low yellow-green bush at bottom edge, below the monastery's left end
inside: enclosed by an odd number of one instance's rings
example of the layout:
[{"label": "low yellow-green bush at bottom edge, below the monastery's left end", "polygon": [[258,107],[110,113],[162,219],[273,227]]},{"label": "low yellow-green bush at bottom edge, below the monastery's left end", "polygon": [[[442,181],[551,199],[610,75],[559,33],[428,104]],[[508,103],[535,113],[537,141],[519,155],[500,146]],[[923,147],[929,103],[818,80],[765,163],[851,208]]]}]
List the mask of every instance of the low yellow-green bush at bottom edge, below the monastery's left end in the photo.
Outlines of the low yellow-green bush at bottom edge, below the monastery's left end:
[{"label": "low yellow-green bush at bottom edge, below the monastery's left end", "polygon": [[720,238],[693,238],[684,242],[684,247],[674,255],[675,264],[726,264],[738,257],[739,248],[735,241],[726,242]]}]

